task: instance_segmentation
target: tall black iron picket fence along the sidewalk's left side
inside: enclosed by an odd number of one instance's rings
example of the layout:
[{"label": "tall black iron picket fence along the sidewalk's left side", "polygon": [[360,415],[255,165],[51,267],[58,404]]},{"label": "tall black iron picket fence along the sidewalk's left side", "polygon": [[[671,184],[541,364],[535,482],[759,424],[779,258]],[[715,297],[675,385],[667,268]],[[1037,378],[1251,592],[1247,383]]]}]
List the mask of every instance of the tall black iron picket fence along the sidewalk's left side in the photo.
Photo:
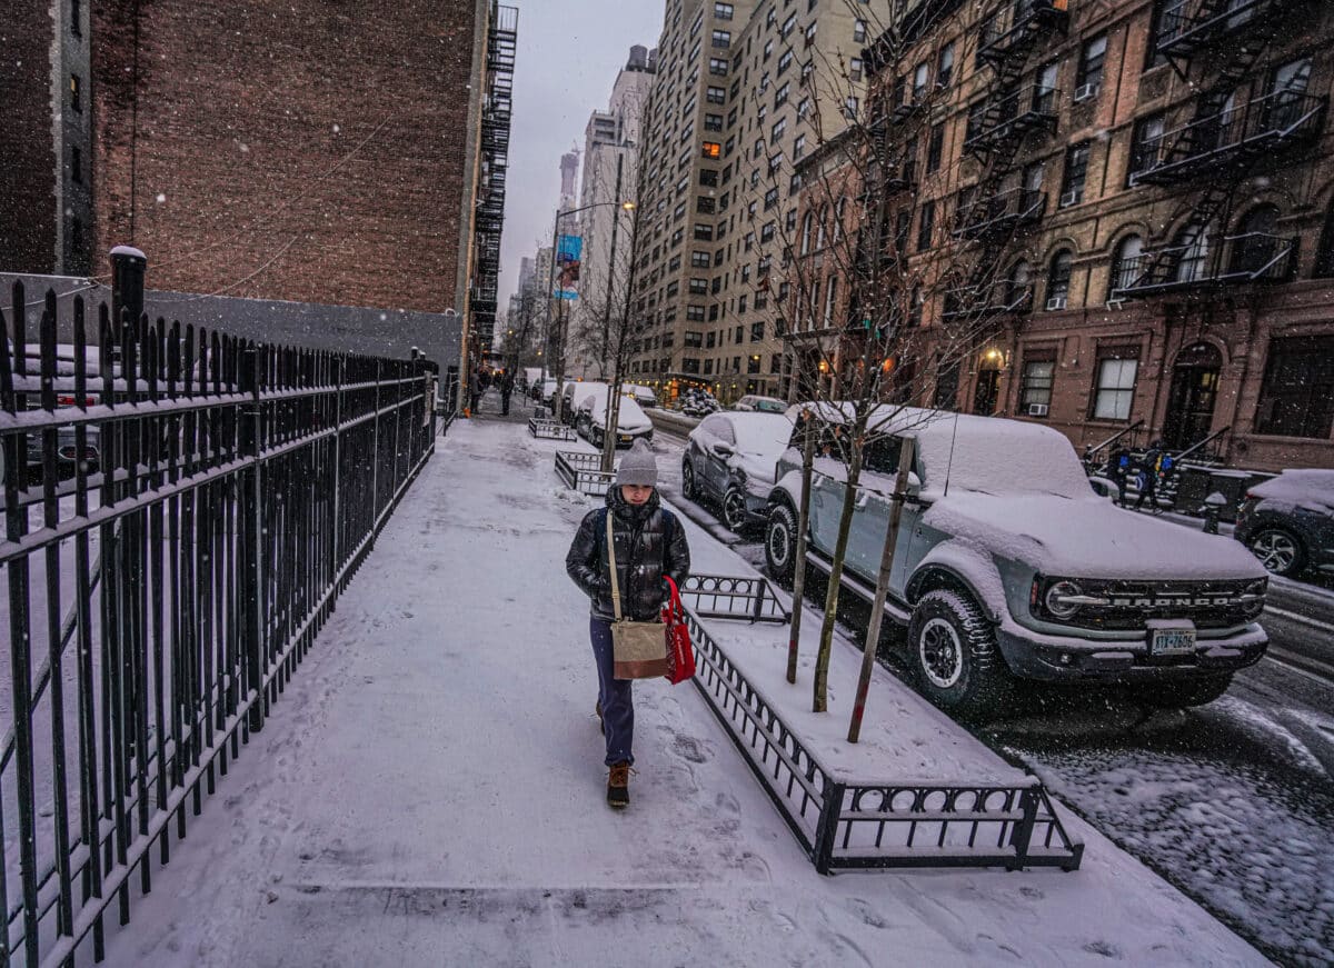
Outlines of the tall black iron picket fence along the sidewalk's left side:
[{"label": "tall black iron picket fence along the sidewalk's left side", "polygon": [[69,312],[0,311],[0,941],[27,965],[89,933],[101,960],[435,447],[420,359]]}]

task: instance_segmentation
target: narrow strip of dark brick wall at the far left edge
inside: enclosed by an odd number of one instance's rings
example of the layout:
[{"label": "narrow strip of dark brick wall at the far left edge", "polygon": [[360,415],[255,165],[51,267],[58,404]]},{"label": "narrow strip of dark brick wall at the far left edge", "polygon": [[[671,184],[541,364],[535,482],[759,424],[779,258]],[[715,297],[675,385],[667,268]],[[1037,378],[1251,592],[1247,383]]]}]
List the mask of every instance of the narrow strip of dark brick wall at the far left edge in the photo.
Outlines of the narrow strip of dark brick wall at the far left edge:
[{"label": "narrow strip of dark brick wall at the far left edge", "polygon": [[45,4],[5,4],[0,12],[0,271],[55,269],[52,29]]}]

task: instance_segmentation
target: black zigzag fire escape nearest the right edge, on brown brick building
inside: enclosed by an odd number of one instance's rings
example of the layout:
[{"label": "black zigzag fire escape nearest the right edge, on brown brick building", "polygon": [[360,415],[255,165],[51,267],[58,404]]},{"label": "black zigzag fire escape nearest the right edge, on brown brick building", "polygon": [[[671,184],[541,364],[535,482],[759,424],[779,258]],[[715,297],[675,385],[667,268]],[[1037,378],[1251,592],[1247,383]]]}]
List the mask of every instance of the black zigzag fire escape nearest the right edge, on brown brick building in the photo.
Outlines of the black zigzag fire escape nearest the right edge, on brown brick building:
[{"label": "black zigzag fire escape nearest the right edge, on brown brick building", "polygon": [[[1297,265],[1297,239],[1242,233],[1211,240],[1211,227],[1230,220],[1231,200],[1266,161],[1290,159],[1319,139],[1325,97],[1306,93],[1306,77],[1257,92],[1247,81],[1274,39],[1306,0],[1177,0],[1159,21],[1158,53],[1190,80],[1193,61],[1217,64],[1189,121],[1137,145],[1131,185],[1158,185],[1185,197],[1166,221],[1170,231],[1190,213],[1174,240],[1126,259],[1114,299],[1247,283],[1283,281]],[[1249,100],[1241,100],[1250,93]],[[1175,244],[1166,244],[1174,241]],[[1213,244],[1211,244],[1213,243]],[[1225,263],[1225,247],[1233,251]]]}]

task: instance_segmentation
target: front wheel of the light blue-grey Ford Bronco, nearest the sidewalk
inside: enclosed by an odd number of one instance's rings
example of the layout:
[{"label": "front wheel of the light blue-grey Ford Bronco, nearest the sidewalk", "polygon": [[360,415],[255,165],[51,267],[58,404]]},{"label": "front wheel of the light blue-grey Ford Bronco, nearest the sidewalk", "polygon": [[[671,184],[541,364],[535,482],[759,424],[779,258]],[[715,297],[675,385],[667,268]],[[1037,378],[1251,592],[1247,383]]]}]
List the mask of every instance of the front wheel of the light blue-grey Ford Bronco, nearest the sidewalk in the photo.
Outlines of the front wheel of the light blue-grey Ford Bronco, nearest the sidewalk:
[{"label": "front wheel of the light blue-grey Ford Bronco, nearest the sidewalk", "polygon": [[923,595],[908,643],[922,693],[942,709],[986,715],[1009,695],[995,629],[971,597],[950,589]]}]

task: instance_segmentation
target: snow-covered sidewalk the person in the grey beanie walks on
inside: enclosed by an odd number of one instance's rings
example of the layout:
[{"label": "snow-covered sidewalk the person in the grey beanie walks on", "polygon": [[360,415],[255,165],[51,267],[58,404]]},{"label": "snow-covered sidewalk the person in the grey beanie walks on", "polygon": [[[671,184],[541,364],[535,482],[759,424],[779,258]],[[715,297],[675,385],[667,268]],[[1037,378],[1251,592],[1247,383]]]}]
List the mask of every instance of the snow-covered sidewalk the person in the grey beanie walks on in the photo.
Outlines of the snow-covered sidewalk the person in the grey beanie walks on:
[{"label": "snow-covered sidewalk the person in the grey beanie walks on", "polygon": [[590,504],[520,424],[440,443],[109,964],[1263,964],[1074,819],[1075,873],[822,877],[686,685],[636,687],[611,812]]}]

